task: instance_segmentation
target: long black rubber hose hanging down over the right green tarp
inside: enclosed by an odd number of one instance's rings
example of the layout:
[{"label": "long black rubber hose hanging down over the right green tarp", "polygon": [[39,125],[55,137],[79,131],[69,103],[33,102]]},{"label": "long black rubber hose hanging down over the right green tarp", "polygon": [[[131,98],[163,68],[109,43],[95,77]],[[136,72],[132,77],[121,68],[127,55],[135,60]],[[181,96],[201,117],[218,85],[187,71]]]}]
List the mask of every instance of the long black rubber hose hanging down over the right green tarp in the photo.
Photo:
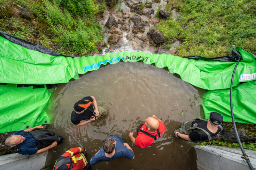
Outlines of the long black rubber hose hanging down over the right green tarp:
[{"label": "long black rubber hose hanging down over the right green tarp", "polygon": [[232,79],[231,79],[231,85],[230,85],[230,111],[231,111],[231,117],[232,117],[232,123],[233,123],[233,126],[234,126],[234,130],[235,130],[235,136],[236,136],[236,139],[238,141],[238,144],[241,148],[241,151],[243,153],[243,156],[241,156],[244,160],[246,160],[246,162],[248,163],[249,167],[251,170],[254,170],[253,166],[251,165],[251,162],[248,158],[248,156],[246,155],[245,153],[245,150],[243,149],[243,146],[241,144],[241,141],[240,141],[240,138],[239,138],[239,135],[238,135],[238,132],[236,130],[236,126],[235,126],[235,119],[234,119],[234,113],[233,113],[233,105],[232,105],[232,86],[233,86],[233,78],[234,78],[234,74],[235,74],[235,69],[236,69],[236,66],[238,65],[238,62],[240,61],[240,58],[238,59],[238,61],[236,62],[236,65],[235,65],[235,68],[234,68],[234,71],[233,71],[233,75],[232,75]]}]

